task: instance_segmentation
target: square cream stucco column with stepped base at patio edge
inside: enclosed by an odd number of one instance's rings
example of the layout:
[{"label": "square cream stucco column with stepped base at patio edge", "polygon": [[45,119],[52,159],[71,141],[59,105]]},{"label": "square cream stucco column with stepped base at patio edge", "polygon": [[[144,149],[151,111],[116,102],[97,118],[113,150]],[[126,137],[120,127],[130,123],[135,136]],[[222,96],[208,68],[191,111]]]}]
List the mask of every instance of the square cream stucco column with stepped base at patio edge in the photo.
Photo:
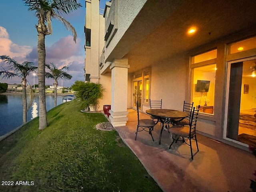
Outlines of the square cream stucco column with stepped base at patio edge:
[{"label": "square cream stucco column with stepped base at patio edge", "polygon": [[111,110],[110,120],[114,127],[126,126],[128,59],[114,60],[111,69]]}]

